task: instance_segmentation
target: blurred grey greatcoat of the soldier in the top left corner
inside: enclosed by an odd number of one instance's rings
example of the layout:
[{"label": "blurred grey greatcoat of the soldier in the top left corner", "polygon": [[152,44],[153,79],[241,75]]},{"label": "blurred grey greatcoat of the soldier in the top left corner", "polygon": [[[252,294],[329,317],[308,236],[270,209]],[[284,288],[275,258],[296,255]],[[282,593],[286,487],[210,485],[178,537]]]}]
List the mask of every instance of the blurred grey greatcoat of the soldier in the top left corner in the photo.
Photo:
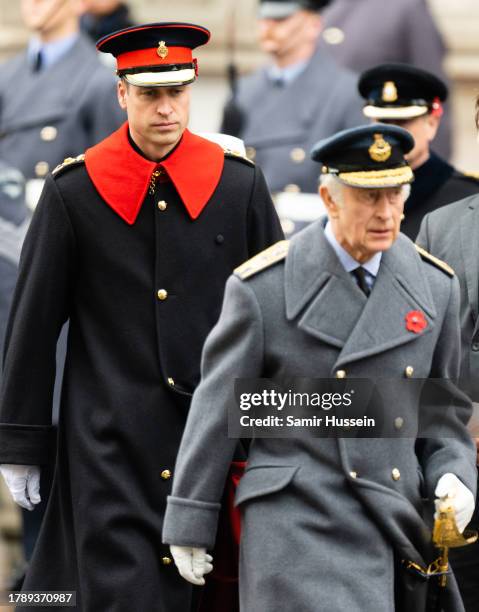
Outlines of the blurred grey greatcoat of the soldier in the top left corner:
[{"label": "blurred grey greatcoat of the soldier in the top left corner", "polygon": [[26,52],[0,66],[0,158],[27,179],[103,140],[124,121],[113,71],[82,34],[55,64],[33,72]]}]

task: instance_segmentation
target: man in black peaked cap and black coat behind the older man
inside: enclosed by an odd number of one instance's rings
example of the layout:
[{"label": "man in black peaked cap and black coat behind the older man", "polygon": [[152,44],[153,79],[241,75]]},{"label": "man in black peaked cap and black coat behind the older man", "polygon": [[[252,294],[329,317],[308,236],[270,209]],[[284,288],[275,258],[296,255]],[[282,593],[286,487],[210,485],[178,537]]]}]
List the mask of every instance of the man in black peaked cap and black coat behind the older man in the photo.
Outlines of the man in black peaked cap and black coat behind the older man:
[{"label": "man in black peaked cap and black coat behind the older man", "polygon": [[359,79],[369,119],[393,123],[414,137],[407,159],[414,171],[401,231],[414,240],[427,213],[479,192],[479,181],[456,170],[431,151],[447,99],[446,84],[434,74],[406,64],[381,64]]}]

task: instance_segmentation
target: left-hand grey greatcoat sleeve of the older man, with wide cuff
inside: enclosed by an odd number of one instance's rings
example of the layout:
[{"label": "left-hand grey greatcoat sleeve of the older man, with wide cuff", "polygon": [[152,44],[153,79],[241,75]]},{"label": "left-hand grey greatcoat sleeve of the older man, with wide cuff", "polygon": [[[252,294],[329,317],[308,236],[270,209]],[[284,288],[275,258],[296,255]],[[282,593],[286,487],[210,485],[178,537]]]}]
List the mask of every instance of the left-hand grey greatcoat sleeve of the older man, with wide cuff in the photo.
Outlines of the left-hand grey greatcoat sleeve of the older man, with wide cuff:
[{"label": "left-hand grey greatcoat sleeve of the older man, with wide cuff", "polygon": [[235,276],[226,284],[218,323],[203,349],[196,389],[168,498],[163,541],[213,548],[220,500],[238,440],[228,437],[235,379],[261,375],[263,322],[256,297]]}]

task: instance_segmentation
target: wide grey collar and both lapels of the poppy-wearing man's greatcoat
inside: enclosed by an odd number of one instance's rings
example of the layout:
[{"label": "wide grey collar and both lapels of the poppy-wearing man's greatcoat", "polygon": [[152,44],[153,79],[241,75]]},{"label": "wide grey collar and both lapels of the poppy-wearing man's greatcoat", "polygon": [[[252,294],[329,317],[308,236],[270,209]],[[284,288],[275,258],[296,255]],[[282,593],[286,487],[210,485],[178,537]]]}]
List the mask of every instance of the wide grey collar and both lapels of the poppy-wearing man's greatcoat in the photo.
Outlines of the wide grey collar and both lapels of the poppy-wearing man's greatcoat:
[{"label": "wide grey collar and both lapels of the poppy-wearing man's greatcoat", "polygon": [[[343,268],[323,231],[325,220],[291,240],[285,264],[288,320],[298,318],[306,333],[341,349],[333,369],[412,342],[434,326],[436,310],[422,261],[400,235],[383,254],[369,298]],[[421,311],[426,328],[406,328],[406,315]]]}]

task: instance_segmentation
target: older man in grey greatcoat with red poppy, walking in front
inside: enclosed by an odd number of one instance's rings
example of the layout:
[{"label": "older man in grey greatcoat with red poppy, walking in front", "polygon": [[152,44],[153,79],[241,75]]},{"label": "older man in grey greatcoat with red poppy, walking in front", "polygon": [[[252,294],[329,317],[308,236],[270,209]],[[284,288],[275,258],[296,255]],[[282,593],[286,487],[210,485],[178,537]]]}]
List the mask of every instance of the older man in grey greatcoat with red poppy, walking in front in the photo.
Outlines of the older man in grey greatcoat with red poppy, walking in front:
[{"label": "older man in grey greatcoat with red poppy, walking in front", "polygon": [[[328,220],[229,279],[163,530],[187,580],[201,584],[211,570],[206,550],[235,446],[227,426],[235,380],[379,375],[384,419],[400,431],[418,416],[401,381],[457,377],[457,281],[399,232],[412,146],[405,130],[379,124],[319,143],[313,159],[325,175]],[[242,612],[426,609],[434,590],[413,573],[438,556],[427,523],[432,501],[437,509],[448,499],[459,530],[474,509],[471,405],[454,384],[450,390],[452,403],[433,404],[420,441],[414,432],[392,440],[253,439],[236,494]],[[431,429],[438,420],[440,436]],[[443,595],[443,610],[463,610],[452,575]]]}]

